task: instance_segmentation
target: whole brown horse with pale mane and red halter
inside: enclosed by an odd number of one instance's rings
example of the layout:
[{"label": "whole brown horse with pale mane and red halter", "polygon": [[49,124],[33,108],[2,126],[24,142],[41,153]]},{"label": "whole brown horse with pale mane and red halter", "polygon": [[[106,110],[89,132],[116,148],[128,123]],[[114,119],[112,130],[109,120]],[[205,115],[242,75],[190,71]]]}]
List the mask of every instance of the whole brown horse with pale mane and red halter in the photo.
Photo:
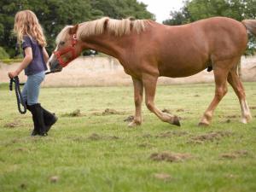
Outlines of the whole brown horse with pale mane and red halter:
[{"label": "whole brown horse with pale mane and red halter", "polygon": [[214,109],[227,92],[227,81],[238,96],[241,122],[246,124],[252,116],[237,65],[247,48],[247,30],[256,35],[256,20],[239,22],[214,17],[183,26],[165,26],[152,20],[104,17],[62,29],[49,66],[51,71],[61,70],[84,49],[95,49],[117,58],[134,85],[136,111],[130,126],[142,124],[143,88],[147,108],[162,121],[180,125],[177,116],[155,107],[157,79],[187,77],[209,67],[214,73],[215,96],[199,125],[210,124]]}]

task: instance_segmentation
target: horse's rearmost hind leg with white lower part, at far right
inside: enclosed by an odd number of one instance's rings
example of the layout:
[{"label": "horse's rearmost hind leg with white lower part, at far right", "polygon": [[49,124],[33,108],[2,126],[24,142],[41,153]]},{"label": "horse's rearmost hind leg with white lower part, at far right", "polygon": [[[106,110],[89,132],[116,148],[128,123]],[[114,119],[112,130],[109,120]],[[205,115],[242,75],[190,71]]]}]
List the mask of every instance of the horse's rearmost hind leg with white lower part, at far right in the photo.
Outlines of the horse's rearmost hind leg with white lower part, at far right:
[{"label": "horse's rearmost hind leg with white lower part, at far right", "polygon": [[241,84],[241,80],[239,79],[236,73],[236,67],[231,69],[228,76],[228,82],[235,90],[236,96],[238,97],[241,105],[241,122],[244,124],[247,124],[247,122],[249,122],[249,120],[252,119],[252,115],[250,112],[250,108],[248,108],[248,105],[247,105],[246,95],[245,95],[244,88]]}]

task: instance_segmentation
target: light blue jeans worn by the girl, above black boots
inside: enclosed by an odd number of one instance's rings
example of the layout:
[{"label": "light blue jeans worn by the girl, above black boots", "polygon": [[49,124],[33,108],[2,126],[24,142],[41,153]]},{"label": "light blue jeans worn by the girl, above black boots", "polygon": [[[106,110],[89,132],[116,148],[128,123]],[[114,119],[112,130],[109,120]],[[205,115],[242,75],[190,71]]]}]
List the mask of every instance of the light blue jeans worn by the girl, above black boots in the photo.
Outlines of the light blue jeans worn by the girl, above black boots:
[{"label": "light blue jeans worn by the girl, above black boots", "polygon": [[28,105],[38,103],[40,84],[44,81],[45,73],[40,72],[27,76],[26,84],[23,87],[21,96]]}]

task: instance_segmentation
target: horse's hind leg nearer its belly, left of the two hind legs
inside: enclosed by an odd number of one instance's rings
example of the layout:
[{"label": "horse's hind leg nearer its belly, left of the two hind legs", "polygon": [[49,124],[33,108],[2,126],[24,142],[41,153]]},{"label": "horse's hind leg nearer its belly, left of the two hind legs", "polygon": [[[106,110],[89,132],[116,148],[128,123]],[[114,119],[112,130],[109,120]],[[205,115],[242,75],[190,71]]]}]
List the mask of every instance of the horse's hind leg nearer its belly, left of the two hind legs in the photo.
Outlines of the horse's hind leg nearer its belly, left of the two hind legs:
[{"label": "horse's hind leg nearer its belly, left of the two hind legs", "polygon": [[230,61],[218,61],[214,64],[213,73],[215,79],[215,96],[207,108],[206,112],[203,114],[199,125],[210,125],[212,120],[212,114],[218,106],[218,102],[227,93],[227,77],[230,71]]}]

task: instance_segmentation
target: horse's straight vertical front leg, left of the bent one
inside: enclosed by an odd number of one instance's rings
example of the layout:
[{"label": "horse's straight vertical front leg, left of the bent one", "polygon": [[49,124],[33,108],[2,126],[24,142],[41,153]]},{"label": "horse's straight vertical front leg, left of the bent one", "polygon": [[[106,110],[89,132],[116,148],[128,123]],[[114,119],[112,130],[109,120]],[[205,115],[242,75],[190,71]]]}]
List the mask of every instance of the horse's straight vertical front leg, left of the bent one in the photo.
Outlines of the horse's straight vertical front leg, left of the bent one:
[{"label": "horse's straight vertical front leg, left of the bent one", "polygon": [[134,87],[134,103],[135,103],[135,116],[130,127],[142,124],[142,102],[143,102],[143,81],[140,79],[132,78]]}]

